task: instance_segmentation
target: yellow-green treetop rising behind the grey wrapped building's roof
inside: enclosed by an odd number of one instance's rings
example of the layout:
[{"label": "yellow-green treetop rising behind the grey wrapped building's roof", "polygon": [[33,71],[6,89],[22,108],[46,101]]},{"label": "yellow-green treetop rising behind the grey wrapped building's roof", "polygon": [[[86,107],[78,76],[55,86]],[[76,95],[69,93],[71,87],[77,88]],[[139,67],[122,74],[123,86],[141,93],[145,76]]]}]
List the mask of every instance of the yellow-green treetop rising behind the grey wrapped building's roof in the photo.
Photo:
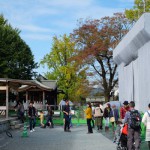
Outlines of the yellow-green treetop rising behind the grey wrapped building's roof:
[{"label": "yellow-green treetop rising behind the grey wrapped building's roof", "polygon": [[136,21],[144,12],[150,12],[150,0],[134,0],[132,9],[125,11],[126,17],[131,21]]}]

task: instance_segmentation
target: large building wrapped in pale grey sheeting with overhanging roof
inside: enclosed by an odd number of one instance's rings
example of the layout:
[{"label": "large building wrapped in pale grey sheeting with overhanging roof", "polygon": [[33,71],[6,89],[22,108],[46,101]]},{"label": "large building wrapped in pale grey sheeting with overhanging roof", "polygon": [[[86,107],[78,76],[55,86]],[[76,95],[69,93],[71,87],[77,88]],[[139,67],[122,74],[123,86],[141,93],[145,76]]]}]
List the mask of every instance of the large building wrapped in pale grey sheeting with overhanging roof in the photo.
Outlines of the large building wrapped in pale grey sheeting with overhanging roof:
[{"label": "large building wrapped in pale grey sheeting with overhanging roof", "polygon": [[150,13],[145,13],[113,53],[118,64],[119,100],[134,100],[136,108],[150,103]]}]

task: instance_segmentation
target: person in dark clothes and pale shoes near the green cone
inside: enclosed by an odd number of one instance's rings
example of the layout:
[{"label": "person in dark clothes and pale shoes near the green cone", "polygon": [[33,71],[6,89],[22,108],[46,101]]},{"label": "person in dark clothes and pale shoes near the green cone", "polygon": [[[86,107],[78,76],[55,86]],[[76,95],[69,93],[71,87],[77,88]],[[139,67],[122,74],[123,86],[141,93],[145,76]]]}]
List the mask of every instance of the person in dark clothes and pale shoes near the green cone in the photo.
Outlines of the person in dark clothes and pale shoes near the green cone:
[{"label": "person in dark clothes and pale shoes near the green cone", "polygon": [[35,131],[35,124],[36,124],[36,109],[33,106],[33,102],[30,102],[29,104],[29,111],[28,111],[28,116],[29,116],[29,123],[30,123],[30,132]]}]

